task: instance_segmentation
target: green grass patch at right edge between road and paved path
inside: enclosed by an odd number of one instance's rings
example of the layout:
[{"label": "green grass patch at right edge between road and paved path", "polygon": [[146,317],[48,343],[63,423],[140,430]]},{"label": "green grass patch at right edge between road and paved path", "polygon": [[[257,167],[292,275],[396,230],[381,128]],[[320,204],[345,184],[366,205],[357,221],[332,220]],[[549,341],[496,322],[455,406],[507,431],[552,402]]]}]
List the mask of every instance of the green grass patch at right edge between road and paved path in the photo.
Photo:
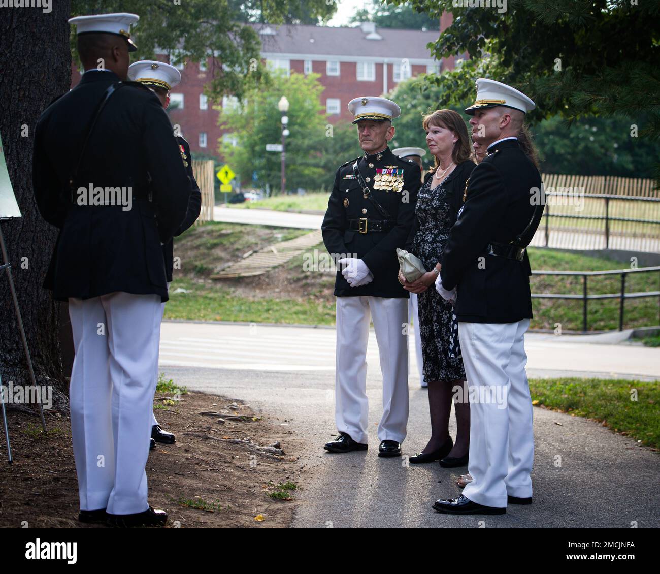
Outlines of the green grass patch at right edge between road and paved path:
[{"label": "green grass patch at right edge between road and paved path", "polygon": [[647,447],[660,448],[660,382],[532,378],[533,404],[587,417]]}]

